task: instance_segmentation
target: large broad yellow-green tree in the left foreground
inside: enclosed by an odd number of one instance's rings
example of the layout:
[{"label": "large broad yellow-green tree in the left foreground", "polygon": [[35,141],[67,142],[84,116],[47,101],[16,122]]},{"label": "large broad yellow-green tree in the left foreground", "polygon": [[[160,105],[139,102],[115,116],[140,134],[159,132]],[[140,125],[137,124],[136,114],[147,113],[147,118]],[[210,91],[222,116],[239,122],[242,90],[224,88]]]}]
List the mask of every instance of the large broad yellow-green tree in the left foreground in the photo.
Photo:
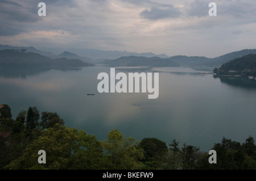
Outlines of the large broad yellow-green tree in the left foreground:
[{"label": "large broad yellow-green tree in the left foreground", "polygon": [[[46,151],[46,164],[38,163],[38,151]],[[103,165],[103,166],[102,166]],[[100,141],[95,136],[56,124],[27,146],[22,157],[4,169],[105,169]]]}]

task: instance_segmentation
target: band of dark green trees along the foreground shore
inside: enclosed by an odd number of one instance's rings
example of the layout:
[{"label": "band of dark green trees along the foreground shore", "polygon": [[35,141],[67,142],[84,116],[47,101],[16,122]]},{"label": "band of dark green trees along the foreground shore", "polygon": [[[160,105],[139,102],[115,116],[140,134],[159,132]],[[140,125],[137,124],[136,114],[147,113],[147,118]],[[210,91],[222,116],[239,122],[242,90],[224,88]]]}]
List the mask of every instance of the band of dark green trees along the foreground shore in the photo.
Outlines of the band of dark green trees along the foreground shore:
[{"label": "band of dark green trees along the foreground shore", "polygon": [[[245,143],[223,138],[213,145],[217,164],[199,148],[176,140],[166,144],[157,138],[125,138],[117,129],[99,141],[77,128],[68,128],[56,112],[39,112],[36,107],[19,112],[0,109],[0,169],[256,169],[256,146],[249,136]],[[47,153],[46,164],[38,163],[38,151]]]}]

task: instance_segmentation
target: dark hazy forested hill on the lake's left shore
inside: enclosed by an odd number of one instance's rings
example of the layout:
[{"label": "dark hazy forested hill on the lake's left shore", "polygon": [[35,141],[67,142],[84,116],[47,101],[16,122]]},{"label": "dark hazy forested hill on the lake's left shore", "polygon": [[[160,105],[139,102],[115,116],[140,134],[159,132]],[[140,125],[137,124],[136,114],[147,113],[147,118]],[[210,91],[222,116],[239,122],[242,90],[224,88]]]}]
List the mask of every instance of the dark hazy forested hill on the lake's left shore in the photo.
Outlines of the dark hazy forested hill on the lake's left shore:
[{"label": "dark hazy forested hill on the lake's left shore", "polygon": [[64,66],[64,67],[82,67],[93,66],[79,59],[55,58],[51,59],[38,53],[27,52],[26,49],[0,50],[0,65],[11,66]]}]

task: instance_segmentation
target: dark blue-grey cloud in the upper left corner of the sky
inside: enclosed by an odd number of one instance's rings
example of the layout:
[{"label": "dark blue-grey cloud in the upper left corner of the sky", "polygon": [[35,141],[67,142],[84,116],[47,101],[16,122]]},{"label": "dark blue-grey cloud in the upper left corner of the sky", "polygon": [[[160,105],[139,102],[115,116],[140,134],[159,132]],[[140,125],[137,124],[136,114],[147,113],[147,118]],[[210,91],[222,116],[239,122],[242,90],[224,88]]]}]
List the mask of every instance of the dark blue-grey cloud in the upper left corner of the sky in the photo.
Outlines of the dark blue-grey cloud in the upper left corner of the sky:
[{"label": "dark blue-grey cloud in the upper left corner of the sky", "polygon": [[[63,12],[68,11],[70,7],[77,7],[76,1],[65,0],[36,0],[36,1],[14,1],[14,0],[1,0],[0,1],[0,35],[17,35],[21,32],[31,31],[30,28],[35,30],[33,24],[43,20],[38,16],[39,2],[46,3],[47,16],[55,13],[56,7],[63,7]],[[37,29],[46,29],[38,27]]]}]

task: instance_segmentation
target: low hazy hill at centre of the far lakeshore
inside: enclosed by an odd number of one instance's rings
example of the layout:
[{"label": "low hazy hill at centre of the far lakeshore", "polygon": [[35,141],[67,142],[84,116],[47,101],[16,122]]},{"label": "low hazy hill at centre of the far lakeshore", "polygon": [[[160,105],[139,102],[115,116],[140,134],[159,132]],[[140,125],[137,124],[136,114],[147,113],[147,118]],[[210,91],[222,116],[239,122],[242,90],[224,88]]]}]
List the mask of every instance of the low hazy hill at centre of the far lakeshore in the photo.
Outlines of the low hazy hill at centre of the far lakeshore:
[{"label": "low hazy hill at centre of the far lakeshore", "polygon": [[109,66],[151,66],[151,67],[164,67],[164,66],[179,66],[171,58],[160,58],[160,57],[121,57],[115,60],[105,60],[102,64]]}]

